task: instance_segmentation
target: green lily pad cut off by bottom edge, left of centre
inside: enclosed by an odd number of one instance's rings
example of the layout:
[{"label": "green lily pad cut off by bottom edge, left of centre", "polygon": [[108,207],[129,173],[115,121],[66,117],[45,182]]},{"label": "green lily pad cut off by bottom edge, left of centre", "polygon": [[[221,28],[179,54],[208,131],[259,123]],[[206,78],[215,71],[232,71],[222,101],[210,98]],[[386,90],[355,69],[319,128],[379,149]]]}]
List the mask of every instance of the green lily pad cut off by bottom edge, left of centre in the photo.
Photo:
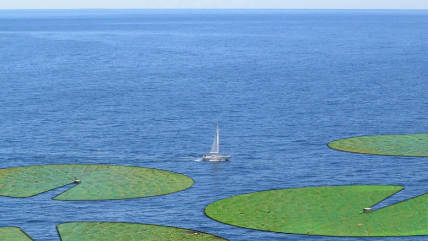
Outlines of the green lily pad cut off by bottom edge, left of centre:
[{"label": "green lily pad cut off by bottom edge, left of centre", "polygon": [[227,241],[189,229],[126,222],[66,222],[57,228],[62,241]]}]

